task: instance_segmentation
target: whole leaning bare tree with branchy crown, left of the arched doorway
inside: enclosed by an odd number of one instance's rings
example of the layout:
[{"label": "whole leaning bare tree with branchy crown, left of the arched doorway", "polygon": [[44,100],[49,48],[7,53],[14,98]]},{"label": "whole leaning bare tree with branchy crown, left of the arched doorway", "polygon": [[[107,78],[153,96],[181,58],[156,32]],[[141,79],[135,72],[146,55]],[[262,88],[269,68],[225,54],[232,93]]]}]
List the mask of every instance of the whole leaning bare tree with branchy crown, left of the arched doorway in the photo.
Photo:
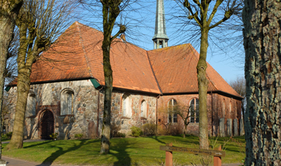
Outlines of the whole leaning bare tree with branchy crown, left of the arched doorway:
[{"label": "whole leaning bare tree with branchy crown, left of the arched doorway", "polygon": [[13,136],[6,149],[22,148],[23,128],[27,95],[30,91],[32,64],[40,53],[48,49],[68,25],[67,18],[72,11],[71,0],[30,0],[24,1],[16,25],[20,34],[18,50],[18,99],[15,107]]}]

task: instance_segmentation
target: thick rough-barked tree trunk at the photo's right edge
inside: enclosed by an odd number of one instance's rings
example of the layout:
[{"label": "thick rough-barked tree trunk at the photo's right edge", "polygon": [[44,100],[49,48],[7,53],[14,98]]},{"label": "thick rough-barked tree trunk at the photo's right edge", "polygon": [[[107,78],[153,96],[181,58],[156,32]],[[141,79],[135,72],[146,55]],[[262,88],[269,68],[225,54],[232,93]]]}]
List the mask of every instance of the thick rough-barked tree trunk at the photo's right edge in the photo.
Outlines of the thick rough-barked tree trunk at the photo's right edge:
[{"label": "thick rough-barked tree trunk at the photo's right edge", "polygon": [[244,1],[246,165],[281,163],[281,4]]}]

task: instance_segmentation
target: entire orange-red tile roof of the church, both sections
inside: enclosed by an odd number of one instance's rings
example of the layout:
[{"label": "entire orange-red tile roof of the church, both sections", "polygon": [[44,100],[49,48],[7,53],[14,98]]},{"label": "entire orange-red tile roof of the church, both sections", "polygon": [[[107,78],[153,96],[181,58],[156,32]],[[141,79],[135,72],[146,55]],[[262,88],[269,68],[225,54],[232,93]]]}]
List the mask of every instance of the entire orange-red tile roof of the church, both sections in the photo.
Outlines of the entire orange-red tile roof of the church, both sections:
[{"label": "entire orange-red tile roof of the church, both sections", "polygon": [[[104,85],[102,41],[102,32],[75,22],[33,64],[31,82],[96,78]],[[110,49],[113,87],[156,94],[198,92],[198,60],[189,43],[146,51],[115,39]],[[240,97],[209,64],[207,77],[208,91]]]}]

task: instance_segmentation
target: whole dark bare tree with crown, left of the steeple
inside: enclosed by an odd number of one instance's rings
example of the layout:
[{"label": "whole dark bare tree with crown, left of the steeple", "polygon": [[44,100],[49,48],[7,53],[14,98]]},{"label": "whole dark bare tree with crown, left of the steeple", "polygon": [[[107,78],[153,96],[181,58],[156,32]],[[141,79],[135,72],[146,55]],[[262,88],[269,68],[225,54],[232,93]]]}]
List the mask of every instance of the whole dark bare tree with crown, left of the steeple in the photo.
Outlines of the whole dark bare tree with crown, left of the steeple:
[{"label": "whole dark bare tree with crown, left of the steeple", "polygon": [[[93,11],[96,17],[102,16],[103,21],[103,71],[105,76],[104,86],[104,111],[103,111],[103,127],[100,141],[100,154],[110,152],[110,119],[111,119],[111,95],[112,95],[112,68],[110,64],[110,46],[114,39],[126,31],[124,23],[117,23],[117,18],[125,8],[136,2],[136,0],[100,0],[100,1],[81,1],[84,6]],[[102,8],[103,13],[97,13],[96,8]],[[113,33],[114,28],[118,30]]]}]

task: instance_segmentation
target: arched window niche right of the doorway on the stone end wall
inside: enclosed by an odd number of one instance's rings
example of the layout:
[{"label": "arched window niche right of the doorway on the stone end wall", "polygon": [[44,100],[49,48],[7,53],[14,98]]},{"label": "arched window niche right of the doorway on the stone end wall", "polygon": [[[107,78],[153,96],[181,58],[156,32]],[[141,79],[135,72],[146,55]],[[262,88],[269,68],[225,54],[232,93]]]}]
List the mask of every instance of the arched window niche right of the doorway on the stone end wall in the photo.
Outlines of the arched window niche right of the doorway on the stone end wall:
[{"label": "arched window niche right of the doorway on the stone end wall", "polygon": [[61,92],[60,115],[63,116],[73,114],[73,101],[74,92],[71,89],[65,89]]}]

